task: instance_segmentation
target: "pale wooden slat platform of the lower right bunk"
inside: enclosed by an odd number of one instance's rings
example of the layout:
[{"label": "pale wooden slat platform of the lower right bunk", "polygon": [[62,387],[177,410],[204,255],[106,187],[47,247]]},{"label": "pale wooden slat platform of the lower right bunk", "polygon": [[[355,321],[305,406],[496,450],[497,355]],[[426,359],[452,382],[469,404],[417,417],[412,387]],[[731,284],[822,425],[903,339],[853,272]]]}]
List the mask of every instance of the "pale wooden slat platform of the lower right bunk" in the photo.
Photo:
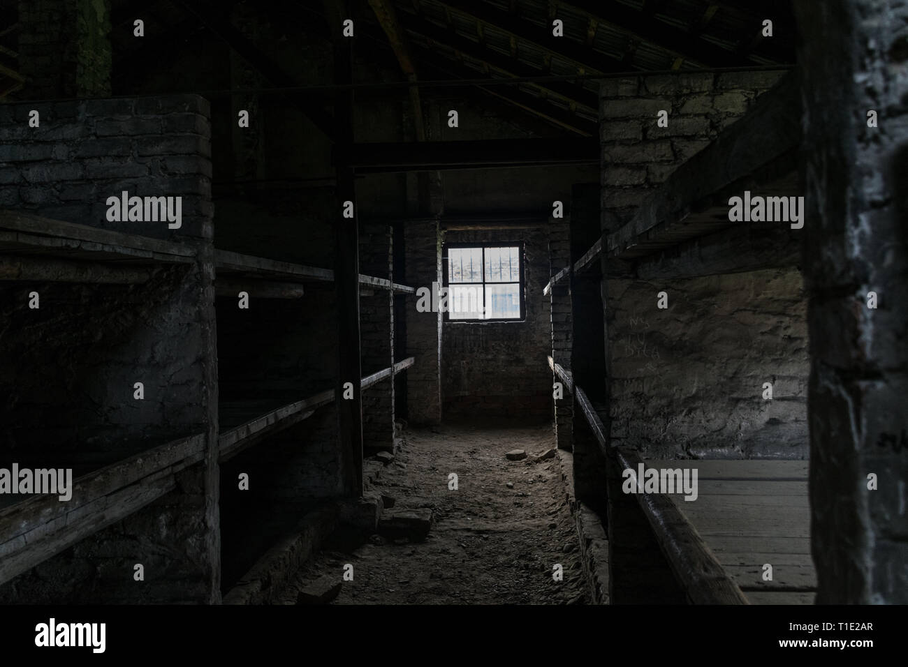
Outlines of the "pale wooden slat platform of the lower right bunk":
[{"label": "pale wooden slat platform of the lower right bunk", "polygon": [[[807,461],[647,461],[696,468],[698,497],[670,495],[753,604],[812,604]],[[764,581],[764,564],[773,566]]]}]

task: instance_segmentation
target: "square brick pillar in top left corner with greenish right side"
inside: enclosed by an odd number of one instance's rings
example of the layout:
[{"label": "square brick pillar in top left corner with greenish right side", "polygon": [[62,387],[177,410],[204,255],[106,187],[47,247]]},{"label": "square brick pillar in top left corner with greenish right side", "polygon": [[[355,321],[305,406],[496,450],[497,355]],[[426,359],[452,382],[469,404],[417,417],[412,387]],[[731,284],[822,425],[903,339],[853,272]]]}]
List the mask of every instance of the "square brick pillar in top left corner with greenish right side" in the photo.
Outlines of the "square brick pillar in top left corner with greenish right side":
[{"label": "square brick pillar in top left corner with greenish right side", "polygon": [[19,25],[20,97],[111,94],[110,0],[20,0]]}]

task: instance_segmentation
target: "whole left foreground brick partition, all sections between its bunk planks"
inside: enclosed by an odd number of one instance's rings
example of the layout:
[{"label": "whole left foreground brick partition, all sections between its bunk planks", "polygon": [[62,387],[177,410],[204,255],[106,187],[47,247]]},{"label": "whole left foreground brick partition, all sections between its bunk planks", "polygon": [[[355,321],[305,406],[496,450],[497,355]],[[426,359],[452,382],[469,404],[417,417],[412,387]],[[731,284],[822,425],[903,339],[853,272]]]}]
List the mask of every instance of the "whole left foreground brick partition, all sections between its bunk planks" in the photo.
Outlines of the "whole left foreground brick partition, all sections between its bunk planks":
[{"label": "whole left foreground brick partition, all sections between its bunk planks", "polygon": [[[28,111],[41,126],[27,126]],[[216,425],[207,103],[195,96],[0,105],[0,208],[181,240],[196,261],[137,285],[7,282],[0,350],[0,461],[96,470]],[[182,195],[183,227],[106,220],[121,190]],[[36,290],[41,308],[27,309]],[[144,398],[133,398],[143,382]],[[211,440],[209,440],[211,442]],[[33,464],[32,462],[35,462]],[[162,483],[166,481],[162,478]],[[31,603],[218,599],[216,476],[173,491],[0,586]],[[133,580],[143,564],[145,580]]]}]

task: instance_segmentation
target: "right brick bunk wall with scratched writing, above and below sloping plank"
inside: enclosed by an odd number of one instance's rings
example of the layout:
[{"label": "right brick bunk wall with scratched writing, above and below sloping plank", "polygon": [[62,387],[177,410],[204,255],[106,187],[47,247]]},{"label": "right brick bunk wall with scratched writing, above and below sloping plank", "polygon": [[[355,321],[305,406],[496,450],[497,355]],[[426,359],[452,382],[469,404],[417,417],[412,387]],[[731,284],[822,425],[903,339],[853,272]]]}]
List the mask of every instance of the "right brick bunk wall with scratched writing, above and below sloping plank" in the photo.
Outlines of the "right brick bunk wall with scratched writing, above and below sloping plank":
[{"label": "right brick bunk wall with scratched writing, above and below sloping plank", "polygon": [[[646,193],[734,123],[782,75],[679,74],[602,84],[602,217]],[[668,127],[656,124],[665,109]],[[607,261],[607,260],[606,260]],[[656,308],[666,291],[668,309]],[[694,280],[607,280],[611,434],[648,456],[806,456],[808,374],[797,270]],[[762,398],[763,383],[774,399]]]}]

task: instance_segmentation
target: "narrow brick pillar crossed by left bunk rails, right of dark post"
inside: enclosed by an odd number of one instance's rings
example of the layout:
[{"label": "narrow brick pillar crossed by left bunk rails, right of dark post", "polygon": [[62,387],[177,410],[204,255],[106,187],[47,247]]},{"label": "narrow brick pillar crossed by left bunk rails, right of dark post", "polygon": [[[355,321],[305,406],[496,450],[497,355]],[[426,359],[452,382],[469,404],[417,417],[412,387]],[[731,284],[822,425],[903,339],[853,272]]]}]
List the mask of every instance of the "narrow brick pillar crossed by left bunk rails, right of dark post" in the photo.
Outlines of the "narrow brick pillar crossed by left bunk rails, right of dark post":
[{"label": "narrow brick pillar crossed by left bunk rails, right of dark post", "polygon": [[[360,271],[376,278],[391,278],[391,228],[360,223]],[[390,289],[365,288],[360,292],[360,351],[363,377],[393,362],[394,329]],[[394,381],[383,379],[362,392],[362,446],[367,452],[394,448]]]}]

